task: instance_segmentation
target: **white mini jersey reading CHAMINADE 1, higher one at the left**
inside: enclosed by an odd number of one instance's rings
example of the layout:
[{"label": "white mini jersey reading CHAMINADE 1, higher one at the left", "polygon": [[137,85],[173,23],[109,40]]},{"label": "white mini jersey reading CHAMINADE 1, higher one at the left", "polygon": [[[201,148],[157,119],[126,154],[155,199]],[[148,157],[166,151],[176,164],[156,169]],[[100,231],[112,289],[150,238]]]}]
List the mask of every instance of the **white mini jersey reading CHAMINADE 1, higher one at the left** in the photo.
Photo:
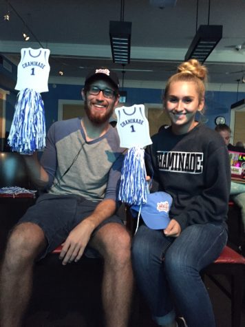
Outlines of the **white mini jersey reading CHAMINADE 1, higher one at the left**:
[{"label": "white mini jersey reading CHAMINADE 1, higher one at the left", "polygon": [[49,49],[21,49],[21,61],[18,65],[15,89],[34,89],[39,93],[48,92],[49,56]]}]

